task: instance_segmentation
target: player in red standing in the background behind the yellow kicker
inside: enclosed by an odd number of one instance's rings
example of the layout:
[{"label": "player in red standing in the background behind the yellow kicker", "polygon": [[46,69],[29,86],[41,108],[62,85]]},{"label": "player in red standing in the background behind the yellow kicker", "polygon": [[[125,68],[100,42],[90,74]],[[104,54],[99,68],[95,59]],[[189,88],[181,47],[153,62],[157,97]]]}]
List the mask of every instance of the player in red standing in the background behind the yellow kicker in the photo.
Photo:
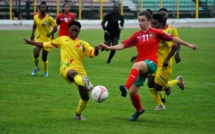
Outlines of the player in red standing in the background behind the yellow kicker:
[{"label": "player in red standing in the background behind the yellow kicker", "polygon": [[62,13],[58,14],[56,18],[57,25],[60,26],[58,36],[69,36],[69,23],[75,20],[75,15],[70,10],[70,4],[63,4]]}]

